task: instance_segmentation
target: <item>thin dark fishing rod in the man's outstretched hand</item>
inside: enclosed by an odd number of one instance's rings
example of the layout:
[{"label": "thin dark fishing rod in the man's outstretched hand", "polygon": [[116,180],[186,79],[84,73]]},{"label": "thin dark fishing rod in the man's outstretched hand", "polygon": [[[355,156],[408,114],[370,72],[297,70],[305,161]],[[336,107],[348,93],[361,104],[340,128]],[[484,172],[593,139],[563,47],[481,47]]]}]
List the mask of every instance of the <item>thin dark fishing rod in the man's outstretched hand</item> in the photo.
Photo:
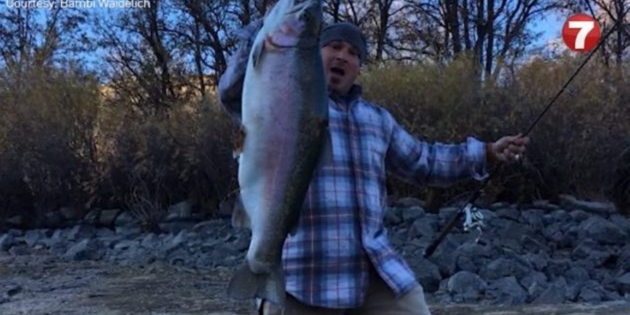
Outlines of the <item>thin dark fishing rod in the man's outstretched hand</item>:
[{"label": "thin dark fishing rod in the man's outstretched hand", "polygon": [[[622,17],[623,16],[626,16],[626,14],[623,14]],[[599,50],[599,48],[606,42],[608,37],[610,37],[610,34],[612,34],[612,32],[616,28],[618,28],[619,25],[621,25],[621,21],[623,21],[622,17],[617,18],[617,23],[615,23],[615,25],[612,28],[610,28],[610,30],[604,35],[604,37],[597,44],[597,47],[595,47],[595,49],[593,49],[590,52],[590,54],[588,54],[587,58],[580,64],[580,67],[578,67],[578,69],[576,69],[576,71],[573,72],[573,75],[568,79],[568,81],[566,81],[566,83],[564,83],[564,86],[558,91],[558,93],[556,93],[556,95],[551,99],[551,101],[549,101],[549,104],[547,104],[547,106],[544,108],[544,110],[542,110],[540,115],[538,115],[536,120],[534,120],[534,122],[529,126],[529,129],[527,129],[527,131],[525,131],[525,133],[522,134],[522,137],[526,137],[532,131],[532,129],[534,129],[534,126],[536,126],[536,124],[541,120],[541,118],[545,115],[545,113],[547,113],[549,108],[551,108],[551,105],[553,105],[555,101],[558,100],[559,96],[562,95],[562,93],[564,92],[564,89],[566,89],[567,86],[571,84],[573,79],[575,79],[578,73],[580,73],[581,69],[587,64],[588,60],[590,60],[591,57],[593,57],[593,55],[595,54],[595,52],[597,52],[597,50]],[[519,156],[517,154],[517,159],[518,157]],[[496,173],[498,173],[497,170],[498,170],[498,166],[495,166],[492,169],[492,171],[489,173],[488,177],[486,177],[483,183],[481,183],[481,187],[479,187],[479,189],[476,190],[476,192],[474,192],[473,195],[471,195],[466,205],[464,205],[464,207],[461,207],[459,210],[457,210],[457,212],[455,212],[455,214],[453,214],[450,217],[449,221],[447,221],[447,224],[444,226],[444,229],[440,231],[440,234],[438,234],[437,238],[433,241],[433,243],[431,243],[428,246],[427,250],[425,251],[425,255],[424,255],[425,258],[429,258],[431,255],[433,255],[433,252],[435,251],[435,249],[437,249],[437,246],[439,246],[440,243],[442,243],[444,238],[446,238],[446,236],[449,234],[450,230],[452,230],[453,227],[455,227],[455,223],[462,217],[464,212],[469,211],[469,209],[473,207],[474,202],[477,200],[477,198],[479,198],[479,196],[481,195],[481,192],[483,192],[484,188],[486,188],[486,185],[488,185],[488,182]]]}]

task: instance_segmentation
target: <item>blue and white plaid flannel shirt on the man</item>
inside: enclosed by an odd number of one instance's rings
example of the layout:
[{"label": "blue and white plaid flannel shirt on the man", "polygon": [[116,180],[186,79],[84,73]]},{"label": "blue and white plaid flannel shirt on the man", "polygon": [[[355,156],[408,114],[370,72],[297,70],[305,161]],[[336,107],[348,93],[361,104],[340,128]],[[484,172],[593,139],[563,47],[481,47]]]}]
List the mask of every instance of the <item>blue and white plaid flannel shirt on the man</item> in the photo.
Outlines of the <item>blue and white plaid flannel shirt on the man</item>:
[{"label": "blue and white plaid flannel shirt on the man", "polygon": [[331,96],[333,161],[316,169],[297,231],[284,245],[287,292],[312,306],[360,306],[370,265],[397,296],[418,285],[383,225],[386,172],[430,186],[488,176],[483,142],[422,142],[361,98],[359,86],[353,90],[347,105]]}]

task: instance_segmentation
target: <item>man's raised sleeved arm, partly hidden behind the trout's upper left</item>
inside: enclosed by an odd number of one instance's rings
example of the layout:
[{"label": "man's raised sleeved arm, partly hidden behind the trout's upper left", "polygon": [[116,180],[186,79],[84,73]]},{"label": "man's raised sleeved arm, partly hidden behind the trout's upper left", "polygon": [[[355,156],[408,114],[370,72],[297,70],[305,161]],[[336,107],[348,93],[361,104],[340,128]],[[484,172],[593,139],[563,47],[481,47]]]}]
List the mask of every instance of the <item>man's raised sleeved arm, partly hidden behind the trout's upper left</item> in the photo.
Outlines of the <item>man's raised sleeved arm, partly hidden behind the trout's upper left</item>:
[{"label": "man's raised sleeved arm, partly hidden behind the trout's upper left", "polygon": [[262,26],[263,20],[259,19],[239,30],[236,51],[227,62],[226,72],[219,79],[219,102],[237,122],[241,121],[241,98],[249,51]]}]

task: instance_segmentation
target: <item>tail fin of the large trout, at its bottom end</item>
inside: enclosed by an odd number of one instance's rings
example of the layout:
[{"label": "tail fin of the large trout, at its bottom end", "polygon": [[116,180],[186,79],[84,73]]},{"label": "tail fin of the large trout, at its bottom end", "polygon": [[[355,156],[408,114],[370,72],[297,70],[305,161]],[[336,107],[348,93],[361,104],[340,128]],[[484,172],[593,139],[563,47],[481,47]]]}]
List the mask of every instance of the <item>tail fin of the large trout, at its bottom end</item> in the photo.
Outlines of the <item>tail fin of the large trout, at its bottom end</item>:
[{"label": "tail fin of the large trout, at its bottom end", "polygon": [[285,283],[282,265],[270,273],[254,273],[245,261],[232,276],[227,295],[234,299],[263,299],[284,309]]}]

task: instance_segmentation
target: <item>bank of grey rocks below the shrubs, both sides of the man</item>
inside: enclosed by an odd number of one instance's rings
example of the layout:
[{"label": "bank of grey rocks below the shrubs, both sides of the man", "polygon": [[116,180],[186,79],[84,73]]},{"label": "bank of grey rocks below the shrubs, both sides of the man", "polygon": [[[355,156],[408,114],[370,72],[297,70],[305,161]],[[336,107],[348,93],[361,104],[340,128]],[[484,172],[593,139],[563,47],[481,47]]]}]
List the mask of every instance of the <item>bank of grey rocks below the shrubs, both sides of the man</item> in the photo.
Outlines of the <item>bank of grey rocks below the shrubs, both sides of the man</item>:
[{"label": "bank of grey rocks below the shrubs, both sides of the man", "polygon": [[[386,215],[391,243],[433,302],[515,306],[630,301],[630,221],[612,205],[570,196],[561,205],[537,202],[522,209],[497,203],[479,209],[482,234],[458,227],[429,260],[423,259],[425,248],[457,209],[454,205],[429,214],[423,202],[406,198],[392,203]],[[249,232],[233,229],[229,219],[193,220],[181,207],[168,215],[162,224],[168,232],[161,234],[142,233],[127,214],[100,212],[98,217],[109,217],[112,224],[98,227],[92,214],[64,229],[11,229],[0,234],[0,255],[43,253],[67,263],[166,265],[205,272],[222,268],[229,273],[249,244]],[[18,284],[3,285],[9,289],[0,292],[0,305],[20,291],[11,287]]]}]

